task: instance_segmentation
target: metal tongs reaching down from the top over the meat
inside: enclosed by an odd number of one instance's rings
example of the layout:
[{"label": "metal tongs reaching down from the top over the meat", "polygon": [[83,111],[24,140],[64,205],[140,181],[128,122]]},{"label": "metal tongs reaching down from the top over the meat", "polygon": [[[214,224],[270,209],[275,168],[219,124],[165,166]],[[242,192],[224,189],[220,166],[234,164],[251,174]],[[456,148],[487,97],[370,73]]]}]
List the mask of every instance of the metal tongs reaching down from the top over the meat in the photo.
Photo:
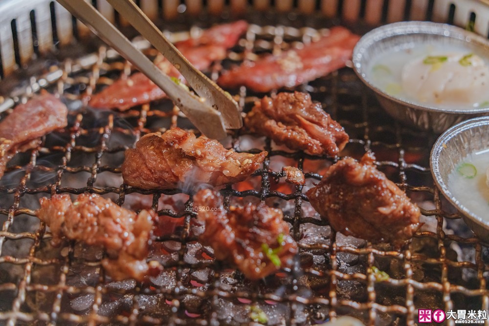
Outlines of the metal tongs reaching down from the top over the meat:
[{"label": "metal tongs reaching down from the top over the meat", "polygon": [[86,0],[57,1],[160,87],[204,135],[222,139],[226,129],[242,127],[238,104],[231,95],[190,64],[132,0],[107,1],[177,68],[200,97],[165,75]]}]

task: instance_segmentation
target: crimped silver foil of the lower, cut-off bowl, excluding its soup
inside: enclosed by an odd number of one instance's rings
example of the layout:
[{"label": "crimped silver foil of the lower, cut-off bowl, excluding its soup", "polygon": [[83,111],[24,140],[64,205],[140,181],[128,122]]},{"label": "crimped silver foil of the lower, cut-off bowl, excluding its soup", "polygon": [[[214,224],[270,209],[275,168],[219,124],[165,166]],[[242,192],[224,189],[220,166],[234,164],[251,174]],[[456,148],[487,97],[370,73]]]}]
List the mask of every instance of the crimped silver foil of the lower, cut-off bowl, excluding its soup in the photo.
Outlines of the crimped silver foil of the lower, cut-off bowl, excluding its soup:
[{"label": "crimped silver foil of the lower, cut-off bowl, excluding its soup", "polygon": [[461,122],[446,130],[436,141],[430,155],[430,168],[443,195],[463,214],[476,236],[489,244],[489,216],[478,217],[462,205],[448,189],[448,175],[469,153],[489,149],[489,117]]}]

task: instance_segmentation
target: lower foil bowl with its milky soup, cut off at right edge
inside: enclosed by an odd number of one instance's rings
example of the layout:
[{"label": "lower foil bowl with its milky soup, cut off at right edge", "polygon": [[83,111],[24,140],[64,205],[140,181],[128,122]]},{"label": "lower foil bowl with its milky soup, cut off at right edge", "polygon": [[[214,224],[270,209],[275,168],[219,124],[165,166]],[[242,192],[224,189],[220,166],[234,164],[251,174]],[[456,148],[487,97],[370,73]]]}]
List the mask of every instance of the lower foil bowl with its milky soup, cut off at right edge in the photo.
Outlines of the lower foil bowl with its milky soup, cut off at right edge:
[{"label": "lower foil bowl with its milky soup, cut off at right edge", "polygon": [[478,238],[489,243],[489,117],[446,130],[430,155],[436,185]]}]

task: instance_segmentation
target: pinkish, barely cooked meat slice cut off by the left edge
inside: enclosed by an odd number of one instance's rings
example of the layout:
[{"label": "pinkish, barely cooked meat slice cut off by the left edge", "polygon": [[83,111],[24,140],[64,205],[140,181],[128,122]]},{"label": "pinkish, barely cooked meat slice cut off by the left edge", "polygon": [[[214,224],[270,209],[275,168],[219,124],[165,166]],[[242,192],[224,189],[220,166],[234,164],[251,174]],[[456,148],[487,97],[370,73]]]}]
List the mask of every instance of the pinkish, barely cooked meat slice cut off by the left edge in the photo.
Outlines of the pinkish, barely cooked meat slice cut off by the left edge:
[{"label": "pinkish, barely cooked meat slice cut off by the left edge", "polygon": [[47,92],[18,105],[0,122],[0,178],[17,153],[35,148],[40,137],[67,126],[68,109]]}]

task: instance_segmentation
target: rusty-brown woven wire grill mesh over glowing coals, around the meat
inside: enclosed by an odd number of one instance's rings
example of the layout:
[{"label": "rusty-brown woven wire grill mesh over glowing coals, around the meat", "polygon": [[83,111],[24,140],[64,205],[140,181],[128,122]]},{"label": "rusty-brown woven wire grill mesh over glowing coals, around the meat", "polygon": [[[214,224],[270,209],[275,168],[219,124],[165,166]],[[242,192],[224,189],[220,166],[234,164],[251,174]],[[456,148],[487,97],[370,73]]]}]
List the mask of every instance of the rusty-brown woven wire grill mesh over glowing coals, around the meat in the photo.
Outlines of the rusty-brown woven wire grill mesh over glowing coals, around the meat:
[{"label": "rusty-brown woven wire grill mesh over glowing coals, around the meat", "polygon": [[[330,23],[295,15],[277,20],[284,21],[310,27],[251,25],[209,75],[216,79],[221,66],[311,42]],[[190,26],[187,30],[196,32]],[[155,56],[152,49],[146,52]],[[68,127],[19,154],[0,183],[0,324],[240,325],[258,321],[251,307],[259,307],[270,325],[310,325],[344,314],[370,325],[413,325],[418,308],[489,309],[487,249],[443,200],[429,173],[436,135],[389,118],[351,68],[296,89],[310,92],[345,127],[351,140],[342,155],[376,153],[379,170],[422,207],[425,225],[400,251],[335,233],[311,210],[304,193],[338,157],[290,152],[267,139],[236,132],[228,147],[240,152],[263,147],[269,155],[249,182],[222,191],[226,207],[266,200],[282,208],[300,247],[294,268],[251,283],[232,266],[212,260],[212,251],[197,242],[194,231],[199,226],[192,222],[196,214],[186,210],[192,207],[191,196],[122,184],[123,152],[143,134],[171,126],[191,128],[178,109],[168,100],[126,112],[87,109],[86,95],[131,73],[127,62],[103,46],[79,59],[49,65],[46,74],[12,93],[19,103],[46,88],[63,96],[70,113]],[[245,112],[263,96],[244,87],[229,91]],[[282,165],[304,171],[308,185],[288,186]],[[50,246],[46,226],[34,215],[38,199],[84,192],[109,197],[126,208],[134,209],[131,201],[149,202],[160,216],[183,219],[175,232],[163,230],[153,245],[151,257],[165,266],[159,277],[148,283],[110,282],[100,268],[104,254],[99,248],[74,241]],[[168,207],[161,198],[177,198],[184,205]],[[390,278],[379,282],[372,266]]]}]

